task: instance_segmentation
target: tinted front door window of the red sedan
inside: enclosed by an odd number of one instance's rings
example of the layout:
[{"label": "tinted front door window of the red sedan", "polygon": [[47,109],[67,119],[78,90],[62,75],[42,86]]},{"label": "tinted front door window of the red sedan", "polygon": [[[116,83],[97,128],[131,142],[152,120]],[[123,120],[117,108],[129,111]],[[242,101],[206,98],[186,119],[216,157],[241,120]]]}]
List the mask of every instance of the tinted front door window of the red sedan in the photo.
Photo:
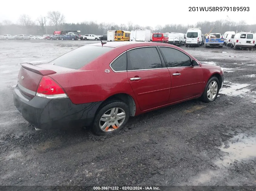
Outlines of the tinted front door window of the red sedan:
[{"label": "tinted front door window of the red sedan", "polygon": [[168,47],[160,47],[160,49],[167,60],[168,67],[191,66],[190,57],[181,51]]}]

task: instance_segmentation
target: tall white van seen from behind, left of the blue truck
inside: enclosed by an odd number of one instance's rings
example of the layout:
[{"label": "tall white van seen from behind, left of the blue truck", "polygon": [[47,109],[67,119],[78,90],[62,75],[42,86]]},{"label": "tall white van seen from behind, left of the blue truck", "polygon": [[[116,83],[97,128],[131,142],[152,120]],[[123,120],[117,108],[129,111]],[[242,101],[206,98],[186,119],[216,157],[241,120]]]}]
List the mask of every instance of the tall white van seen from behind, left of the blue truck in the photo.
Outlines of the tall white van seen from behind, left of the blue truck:
[{"label": "tall white van seen from behind, left of the blue truck", "polygon": [[198,47],[203,45],[201,27],[188,28],[186,34],[186,47],[191,45]]}]

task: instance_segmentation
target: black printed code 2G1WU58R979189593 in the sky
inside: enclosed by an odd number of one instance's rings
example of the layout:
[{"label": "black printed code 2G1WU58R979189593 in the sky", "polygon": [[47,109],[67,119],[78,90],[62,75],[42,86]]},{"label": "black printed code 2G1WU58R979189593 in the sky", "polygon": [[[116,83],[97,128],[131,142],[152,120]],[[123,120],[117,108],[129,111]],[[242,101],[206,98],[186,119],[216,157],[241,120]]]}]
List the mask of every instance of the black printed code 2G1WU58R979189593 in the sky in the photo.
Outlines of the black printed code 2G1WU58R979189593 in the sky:
[{"label": "black printed code 2G1WU58R979189593 in the sky", "polygon": [[250,11],[249,7],[189,7],[188,11]]}]

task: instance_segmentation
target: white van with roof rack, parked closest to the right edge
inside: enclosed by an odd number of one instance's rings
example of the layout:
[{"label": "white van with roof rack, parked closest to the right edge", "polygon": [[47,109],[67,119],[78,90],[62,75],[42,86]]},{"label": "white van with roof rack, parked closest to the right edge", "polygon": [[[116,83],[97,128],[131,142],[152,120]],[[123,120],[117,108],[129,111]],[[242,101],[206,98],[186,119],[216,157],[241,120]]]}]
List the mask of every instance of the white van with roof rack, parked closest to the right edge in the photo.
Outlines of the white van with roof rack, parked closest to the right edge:
[{"label": "white van with roof rack, parked closest to the right edge", "polygon": [[238,47],[252,50],[255,45],[254,32],[238,32],[234,36],[234,40],[231,44],[231,48],[237,49]]}]

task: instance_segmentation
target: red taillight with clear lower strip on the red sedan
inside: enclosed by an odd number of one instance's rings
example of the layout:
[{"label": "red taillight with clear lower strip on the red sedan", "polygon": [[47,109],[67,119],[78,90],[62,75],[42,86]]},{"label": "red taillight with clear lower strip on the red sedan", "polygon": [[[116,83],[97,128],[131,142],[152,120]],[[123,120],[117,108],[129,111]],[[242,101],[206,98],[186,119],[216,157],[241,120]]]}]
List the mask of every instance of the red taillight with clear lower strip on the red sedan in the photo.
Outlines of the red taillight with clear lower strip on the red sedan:
[{"label": "red taillight with clear lower strip on the red sedan", "polygon": [[49,99],[68,97],[62,87],[49,76],[43,76],[39,82],[36,95]]}]

